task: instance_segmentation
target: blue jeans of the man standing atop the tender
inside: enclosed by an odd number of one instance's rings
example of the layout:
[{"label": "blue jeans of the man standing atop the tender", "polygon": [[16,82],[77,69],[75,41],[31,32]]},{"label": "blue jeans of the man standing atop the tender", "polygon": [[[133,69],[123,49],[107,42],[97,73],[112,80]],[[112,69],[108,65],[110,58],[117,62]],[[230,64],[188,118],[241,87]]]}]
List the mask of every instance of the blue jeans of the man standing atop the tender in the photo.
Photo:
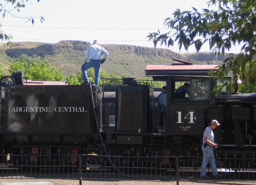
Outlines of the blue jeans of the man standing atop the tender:
[{"label": "blue jeans of the man standing atop the tender", "polygon": [[101,60],[90,60],[84,65],[84,67],[81,67],[84,81],[89,81],[86,70],[90,69],[91,67],[94,67],[94,72],[95,72],[94,84],[98,85],[98,83],[100,82]]}]

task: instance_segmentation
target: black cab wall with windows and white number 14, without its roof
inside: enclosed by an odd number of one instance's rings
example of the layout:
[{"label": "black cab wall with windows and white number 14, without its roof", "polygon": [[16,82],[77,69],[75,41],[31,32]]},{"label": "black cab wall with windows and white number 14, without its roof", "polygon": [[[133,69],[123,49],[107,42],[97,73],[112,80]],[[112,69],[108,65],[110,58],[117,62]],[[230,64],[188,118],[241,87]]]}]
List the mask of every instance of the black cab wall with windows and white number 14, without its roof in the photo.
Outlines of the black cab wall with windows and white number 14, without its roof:
[{"label": "black cab wall with windows and white number 14, without its roof", "polygon": [[[189,94],[185,97],[177,97],[177,87],[187,88]],[[215,96],[212,94],[214,81],[209,77],[167,77],[167,86],[170,94],[167,95],[167,126],[170,134],[201,135],[205,125],[204,111],[215,105]],[[178,86],[177,86],[178,85]],[[167,127],[168,129],[168,127]]]}]

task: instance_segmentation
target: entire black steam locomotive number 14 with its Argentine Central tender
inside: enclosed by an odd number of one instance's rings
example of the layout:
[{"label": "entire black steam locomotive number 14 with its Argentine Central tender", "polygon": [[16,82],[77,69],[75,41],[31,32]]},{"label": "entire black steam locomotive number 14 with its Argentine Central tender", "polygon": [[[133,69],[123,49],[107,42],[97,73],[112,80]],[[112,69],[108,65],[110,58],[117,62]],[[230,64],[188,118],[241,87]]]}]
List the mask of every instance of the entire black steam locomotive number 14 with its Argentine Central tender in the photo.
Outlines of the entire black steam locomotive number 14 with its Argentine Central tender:
[{"label": "entire black steam locomotive number 14 with its Argentine Central tender", "polygon": [[[115,87],[52,85],[26,80],[23,71],[15,71],[10,82],[0,79],[0,151],[22,151],[32,163],[39,152],[100,154],[103,145],[112,156],[186,156],[188,151],[197,156],[204,129],[216,119],[221,123],[214,131],[218,159],[254,157],[256,93],[223,92],[216,99],[212,89],[217,82],[208,71],[218,66],[180,62],[145,69],[145,76],[166,82],[166,115],[157,111],[161,90],[134,78]],[[190,83],[189,99],[174,96],[181,82]],[[76,164],[77,157],[71,155],[69,161]],[[243,162],[255,167],[250,160]]]}]

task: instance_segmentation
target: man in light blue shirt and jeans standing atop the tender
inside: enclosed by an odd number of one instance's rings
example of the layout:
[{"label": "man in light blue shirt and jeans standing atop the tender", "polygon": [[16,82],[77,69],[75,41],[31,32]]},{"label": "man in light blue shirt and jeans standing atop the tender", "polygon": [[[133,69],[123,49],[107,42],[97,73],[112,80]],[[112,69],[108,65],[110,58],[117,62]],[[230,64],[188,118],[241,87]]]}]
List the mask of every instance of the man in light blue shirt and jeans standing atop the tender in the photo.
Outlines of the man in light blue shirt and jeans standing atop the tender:
[{"label": "man in light blue shirt and jeans standing atop the tender", "polygon": [[[104,55],[103,59],[101,59],[102,54]],[[108,52],[103,47],[99,46],[97,40],[94,40],[94,43],[88,47],[85,53],[85,62],[81,67],[84,82],[81,83],[81,85],[89,83],[86,70],[90,69],[91,67],[94,67],[95,72],[94,84],[98,85],[98,83],[100,82],[101,64],[106,61],[107,57]],[[87,62],[87,60],[89,60],[89,62]]]}]

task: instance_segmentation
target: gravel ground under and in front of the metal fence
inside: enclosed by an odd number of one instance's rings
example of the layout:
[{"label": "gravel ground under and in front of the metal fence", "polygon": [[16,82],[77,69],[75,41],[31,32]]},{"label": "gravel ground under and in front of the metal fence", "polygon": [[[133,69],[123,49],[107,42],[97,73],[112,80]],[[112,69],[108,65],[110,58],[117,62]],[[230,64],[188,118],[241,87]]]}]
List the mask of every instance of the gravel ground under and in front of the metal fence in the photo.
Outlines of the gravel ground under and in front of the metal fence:
[{"label": "gravel ground under and in front of the metal fence", "polygon": [[[118,173],[91,173],[91,172],[83,172],[82,173],[82,185],[177,185],[176,182],[176,175],[175,173],[166,174],[166,176],[159,175],[150,175],[148,176],[123,176]],[[249,181],[246,180],[246,176],[243,177],[245,180],[234,180],[230,179],[230,176],[223,176],[222,179],[198,179],[196,173],[193,173],[188,176],[187,175],[180,175],[180,181],[178,182],[179,185],[256,185],[256,180]],[[239,176],[240,177],[240,176]],[[242,176],[241,176],[242,177]],[[59,179],[57,179],[59,178]],[[137,180],[133,180],[136,179]],[[163,179],[164,178],[164,179]],[[209,177],[210,178],[210,177]],[[111,179],[111,180],[110,180]],[[118,180],[119,179],[119,180]],[[253,178],[255,179],[255,178]],[[164,181],[166,180],[166,181]],[[232,181],[229,181],[232,180]],[[28,182],[50,182],[53,185],[79,185],[79,173],[68,173],[68,174],[47,174],[44,171],[41,174],[30,173],[27,172],[26,175],[18,174],[12,172],[11,174],[7,173],[0,173],[0,185],[2,183],[16,183],[15,185],[19,185],[19,182],[28,183]],[[34,183],[36,184],[36,183]],[[49,184],[49,183],[48,183]],[[33,184],[32,184],[33,185]]]}]

